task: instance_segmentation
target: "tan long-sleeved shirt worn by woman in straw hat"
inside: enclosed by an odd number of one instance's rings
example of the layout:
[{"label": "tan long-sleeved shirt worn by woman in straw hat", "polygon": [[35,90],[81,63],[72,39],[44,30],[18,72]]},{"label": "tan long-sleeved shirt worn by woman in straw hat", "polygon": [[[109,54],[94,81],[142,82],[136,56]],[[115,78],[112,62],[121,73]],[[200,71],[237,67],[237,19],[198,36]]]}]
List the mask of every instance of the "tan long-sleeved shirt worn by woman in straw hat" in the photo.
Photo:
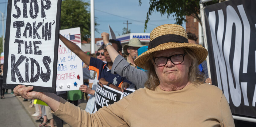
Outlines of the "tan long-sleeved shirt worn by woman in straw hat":
[{"label": "tan long-sleeved shirt worn by woman in straw hat", "polygon": [[234,127],[222,91],[213,85],[189,85],[182,90],[136,90],[94,114],[61,98],[53,113],[72,127]]}]

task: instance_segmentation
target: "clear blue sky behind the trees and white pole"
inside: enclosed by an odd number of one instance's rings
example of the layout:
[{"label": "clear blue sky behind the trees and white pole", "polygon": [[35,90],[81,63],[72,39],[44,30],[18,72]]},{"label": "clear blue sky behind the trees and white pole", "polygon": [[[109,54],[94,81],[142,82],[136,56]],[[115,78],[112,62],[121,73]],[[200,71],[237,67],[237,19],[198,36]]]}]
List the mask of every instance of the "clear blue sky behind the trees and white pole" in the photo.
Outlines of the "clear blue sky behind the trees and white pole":
[{"label": "clear blue sky behind the trees and white pole", "polygon": [[[0,1],[0,11],[4,13],[4,31],[6,26],[6,13],[8,0]],[[89,2],[90,0],[83,0]],[[102,32],[109,32],[108,24],[111,26],[116,36],[122,35],[124,27],[127,27],[126,21],[129,24],[128,29],[131,33],[143,33],[144,23],[149,8],[149,0],[142,0],[142,5],[139,6],[139,0],[94,0],[94,15],[95,21],[99,24],[96,26],[98,32],[95,32],[95,37],[100,38]],[[175,23],[172,16],[167,19],[167,15],[161,16],[159,12],[153,12],[150,16],[150,21],[147,24],[145,33],[150,33],[155,27],[163,24]],[[185,23],[182,25],[185,27]],[[0,37],[2,36],[2,15],[0,14]]]}]

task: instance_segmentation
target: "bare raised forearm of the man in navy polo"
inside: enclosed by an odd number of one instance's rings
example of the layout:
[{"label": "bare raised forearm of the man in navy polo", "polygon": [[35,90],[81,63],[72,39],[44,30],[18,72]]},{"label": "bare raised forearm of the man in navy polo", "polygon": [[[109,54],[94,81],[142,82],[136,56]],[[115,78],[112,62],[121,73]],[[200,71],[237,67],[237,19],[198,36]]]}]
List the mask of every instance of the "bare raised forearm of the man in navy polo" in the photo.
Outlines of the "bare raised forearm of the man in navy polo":
[{"label": "bare raised forearm of the man in navy polo", "polygon": [[67,40],[67,38],[63,37],[59,34],[59,39],[69,48],[72,52],[74,52],[86,65],[90,65],[90,56],[87,55],[81,48],[79,48],[73,42]]}]

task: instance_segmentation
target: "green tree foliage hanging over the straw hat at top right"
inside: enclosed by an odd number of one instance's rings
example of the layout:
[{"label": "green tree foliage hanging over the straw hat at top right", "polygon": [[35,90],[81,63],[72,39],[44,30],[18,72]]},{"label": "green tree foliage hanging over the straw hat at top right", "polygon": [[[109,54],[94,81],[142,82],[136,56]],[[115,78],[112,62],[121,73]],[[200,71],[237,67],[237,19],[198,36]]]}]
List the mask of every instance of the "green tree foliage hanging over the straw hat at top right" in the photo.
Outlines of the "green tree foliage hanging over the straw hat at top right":
[{"label": "green tree foliage hanging over the straw hat at top right", "polygon": [[[225,0],[213,0],[204,4],[211,5],[222,1]],[[147,23],[150,20],[149,16],[154,11],[160,12],[161,16],[166,14],[167,18],[169,18],[169,16],[174,17],[176,20],[175,24],[178,25],[186,21],[186,16],[193,16],[201,23],[199,2],[200,0],[149,0],[150,6],[147,12],[144,29],[147,29]],[[141,4],[142,2],[139,0],[139,5]]]}]

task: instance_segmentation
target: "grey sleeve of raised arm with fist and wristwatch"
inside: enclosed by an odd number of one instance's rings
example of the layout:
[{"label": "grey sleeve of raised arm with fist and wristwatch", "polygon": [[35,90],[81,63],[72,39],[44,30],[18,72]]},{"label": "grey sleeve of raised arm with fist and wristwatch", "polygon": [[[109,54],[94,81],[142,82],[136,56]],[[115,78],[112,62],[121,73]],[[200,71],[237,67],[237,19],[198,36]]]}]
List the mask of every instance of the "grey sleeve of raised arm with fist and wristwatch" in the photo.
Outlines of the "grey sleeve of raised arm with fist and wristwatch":
[{"label": "grey sleeve of raised arm with fist and wristwatch", "polygon": [[111,73],[118,74],[121,77],[125,77],[127,80],[132,81],[138,89],[144,88],[144,84],[147,81],[147,73],[129,65],[121,55],[116,57]]}]

